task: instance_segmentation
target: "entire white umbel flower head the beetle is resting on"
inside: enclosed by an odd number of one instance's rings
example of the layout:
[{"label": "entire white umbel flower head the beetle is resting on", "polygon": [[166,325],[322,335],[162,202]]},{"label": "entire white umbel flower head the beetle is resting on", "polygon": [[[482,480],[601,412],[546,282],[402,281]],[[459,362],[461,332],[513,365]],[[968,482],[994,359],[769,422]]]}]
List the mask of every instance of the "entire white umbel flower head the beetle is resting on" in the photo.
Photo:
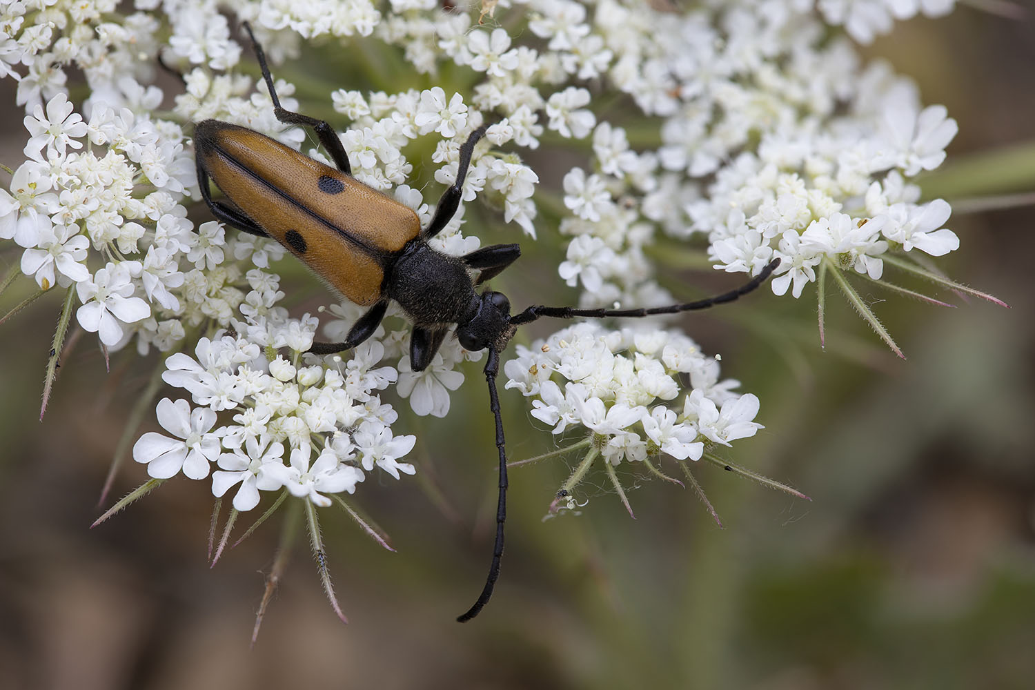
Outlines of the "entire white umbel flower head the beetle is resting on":
[{"label": "entire white umbel flower head the beetle is resting on", "polygon": [[[239,513],[297,499],[328,594],[315,508],[355,516],[345,496],[361,494],[369,474],[402,481],[419,471],[396,408],[405,399],[413,414],[447,415],[481,353],[450,334],[414,371],[411,326],[389,306],[362,346],[309,354],[321,329],[321,339],[342,340],[361,309],[289,310],[296,287],[282,273],[295,264],[285,247],[199,204],[193,132],[205,119],[328,161],[302,128],[277,120],[268,90],[246,76],[254,69],[240,68],[250,60],[241,22],[265,46],[280,106],[292,112],[306,111],[284,79],[300,73],[289,65],[301,47],[331,47],[345,60],[362,38],[366,60],[328,70],[355,79],[324,84],[319,106],[338,116],[334,136],[354,177],[412,208],[422,227],[435,211],[423,190],[435,198],[459,179],[462,144],[484,126],[461,208],[432,246],[477,249],[466,232],[475,215],[539,242],[536,253],[549,253],[557,230],[558,287],[580,289],[584,307],[683,299],[657,281],[659,265],[675,264],[672,246],[752,276],[780,259],[775,294],[818,295],[822,329],[832,279],[897,352],[850,279],[916,296],[888,280],[894,269],[969,290],[926,268],[960,242],[946,224],[948,203],[921,203],[914,180],[941,164],[956,123],[945,108],[925,107],[908,78],[864,62],[854,42],[890,30],[893,19],[944,13],[952,0],[730,0],[678,10],[618,0],[442,4],[0,6],[0,79],[18,83],[26,113],[24,160],[12,161],[0,189],[0,242],[19,252],[23,282],[34,281],[37,295],[64,293],[43,408],[70,325],[96,333],[106,357],[153,357],[171,390],[141,404],[166,432],[126,429],[151,481],[117,508],[183,474],[216,499],[234,489],[229,535]],[[357,71],[400,62],[434,86]],[[181,88],[155,85],[159,64],[180,74]],[[69,99],[70,74],[85,81],[82,101]],[[371,83],[381,90],[355,88]],[[574,152],[563,159],[575,164],[551,171],[558,188],[542,188],[543,171],[526,160],[536,149]],[[582,434],[574,445],[586,453],[565,497],[595,458],[625,500],[616,467],[668,478],[658,456],[688,472],[761,428],[760,400],[733,392],[738,384],[720,380],[716,359],[670,325],[571,325],[519,347],[504,372],[552,434]]]}]

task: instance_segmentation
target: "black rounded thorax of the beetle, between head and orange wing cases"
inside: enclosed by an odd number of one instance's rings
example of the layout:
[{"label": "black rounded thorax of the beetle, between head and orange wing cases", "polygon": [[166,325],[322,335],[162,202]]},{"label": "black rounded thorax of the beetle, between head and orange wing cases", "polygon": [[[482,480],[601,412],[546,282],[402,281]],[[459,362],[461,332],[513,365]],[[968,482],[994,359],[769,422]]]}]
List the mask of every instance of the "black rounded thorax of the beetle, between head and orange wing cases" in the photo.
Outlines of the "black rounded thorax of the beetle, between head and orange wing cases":
[{"label": "black rounded thorax of the beetle, between head and orange wing cases", "polygon": [[382,292],[398,302],[417,326],[455,324],[477,308],[464,263],[420,238],[408,243],[386,267]]}]

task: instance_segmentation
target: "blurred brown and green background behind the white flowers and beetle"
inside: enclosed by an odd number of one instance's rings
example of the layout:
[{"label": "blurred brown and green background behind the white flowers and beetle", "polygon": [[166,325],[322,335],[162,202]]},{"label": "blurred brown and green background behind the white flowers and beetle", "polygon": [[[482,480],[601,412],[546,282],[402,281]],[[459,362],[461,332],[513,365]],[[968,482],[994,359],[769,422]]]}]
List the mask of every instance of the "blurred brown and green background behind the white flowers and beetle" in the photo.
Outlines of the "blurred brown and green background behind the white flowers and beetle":
[{"label": "blurred brown and green background behind the white flowers and beetle", "polygon": [[[900,25],[870,54],[914,76],[924,102],[946,104],[959,122],[928,196],[956,206],[970,192],[1035,189],[1030,13],[1008,21],[960,7]],[[0,102],[2,159],[17,163],[24,133],[9,81]],[[1002,154],[1024,143],[1028,153],[1006,166]],[[988,151],[998,157],[982,157]],[[702,466],[723,530],[692,491],[657,481],[630,491],[631,520],[601,477],[582,515],[544,521],[565,462],[578,458],[515,469],[496,596],[474,622],[456,624],[481,588],[495,510],[491,416],[475,365],[447,419],[415,419],[397,406],[396,427],[418,434],[419,481],[372,478],[357,493],[396,553],[323,512],[350,625],[328,606],[299,539],[250,650],[276,521],[209,570],[211,497],[178,479],[89,530],[156,360],[116,356],[106,373],[94,339],[83,338],[40,423],[59,310],[48,296],[0,327],[0,688],[1032,687],[1035,211],[958,208],[950,227],[963,248],[939,265],[1013,308],[953,298],[959,308],[939,309],[864,293],[886,300],[875,308],[907,361],[833,292],[825,352],[814,292],[795,302],[762,291],[683,322],[722,354],[726,376],[762,399],[767,428],[730,459],[811,503]],[[514,241],[499,237],[483,240]],[[530,244],[497,289],[516,305],[571,300]],[[0,268],[18,257],[6,250]],[[669,277],[732,284],[713,273]],[[325,299],[315,280],[299,284],[299,313]],[[511,458],[549,450],[522,397],[501,395]],[[144,479],[129,462],[114,493]]]}]

